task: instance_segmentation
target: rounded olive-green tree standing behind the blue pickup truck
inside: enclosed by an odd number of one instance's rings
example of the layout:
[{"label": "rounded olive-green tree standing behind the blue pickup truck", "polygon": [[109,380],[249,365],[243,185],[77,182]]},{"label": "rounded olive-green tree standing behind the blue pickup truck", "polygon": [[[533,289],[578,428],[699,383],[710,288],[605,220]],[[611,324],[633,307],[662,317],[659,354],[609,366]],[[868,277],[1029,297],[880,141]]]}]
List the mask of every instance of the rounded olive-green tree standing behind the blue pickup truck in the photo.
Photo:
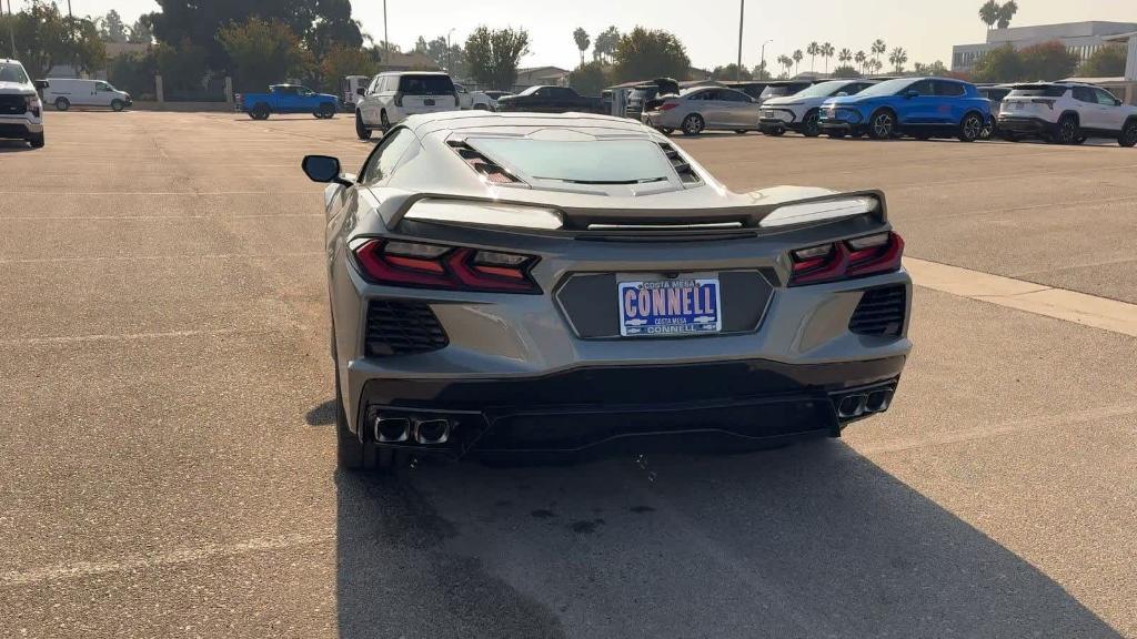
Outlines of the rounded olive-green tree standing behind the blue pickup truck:
[{"label": "rounded olive-green tree standing behind the blue pickup truck", "polygon": [[279,20],[252,17],[230,23],[217,31],[217,41],[232,60],[240,91],[264,91],[268,84],[310,70],[310,55],[296,33]]}]

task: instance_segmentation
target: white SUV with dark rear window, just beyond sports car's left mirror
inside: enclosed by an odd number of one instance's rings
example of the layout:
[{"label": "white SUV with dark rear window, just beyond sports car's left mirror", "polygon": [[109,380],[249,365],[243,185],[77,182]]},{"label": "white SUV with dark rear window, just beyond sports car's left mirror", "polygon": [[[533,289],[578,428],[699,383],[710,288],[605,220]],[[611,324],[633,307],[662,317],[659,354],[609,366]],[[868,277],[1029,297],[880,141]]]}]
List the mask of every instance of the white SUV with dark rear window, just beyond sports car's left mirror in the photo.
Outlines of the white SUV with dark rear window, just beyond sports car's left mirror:
[{"label": "white SUV with dark rear window, just beyond sports car's left mirror", "polygon": [[367,140],[372,131],[385,132],[408,115],[456,111],[458,105],[458,91],[445,73],[381,73],[356,101],[356,135]]}]

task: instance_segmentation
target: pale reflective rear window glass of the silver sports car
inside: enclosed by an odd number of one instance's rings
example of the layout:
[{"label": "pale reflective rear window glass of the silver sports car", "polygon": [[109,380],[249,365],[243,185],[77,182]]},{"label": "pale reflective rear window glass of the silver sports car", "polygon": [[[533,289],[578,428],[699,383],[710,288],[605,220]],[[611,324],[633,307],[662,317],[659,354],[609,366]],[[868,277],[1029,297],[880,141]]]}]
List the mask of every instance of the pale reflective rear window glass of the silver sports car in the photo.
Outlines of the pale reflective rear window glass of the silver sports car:
[{"label": "pale reflective rear window glass of the silver sports car", "polygon": [[657,182],[672,175],[671,160],[648,140],[466,140],[491,160],[542,180],[584,184]]}]

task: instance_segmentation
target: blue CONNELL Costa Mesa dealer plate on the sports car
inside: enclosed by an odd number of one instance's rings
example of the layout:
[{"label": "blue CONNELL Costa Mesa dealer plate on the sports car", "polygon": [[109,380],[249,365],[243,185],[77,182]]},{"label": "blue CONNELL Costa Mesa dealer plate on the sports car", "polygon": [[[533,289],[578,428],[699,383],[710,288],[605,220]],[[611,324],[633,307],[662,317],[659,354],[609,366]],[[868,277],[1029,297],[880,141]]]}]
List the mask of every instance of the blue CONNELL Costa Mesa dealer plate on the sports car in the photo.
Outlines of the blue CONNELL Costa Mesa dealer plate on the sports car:
[{"label": "blue CONNELL Costa Mesa dealer plate on the sports car", "polygon": [[620,334],[691,335],[722,331],[717,277],[620,282]]}]

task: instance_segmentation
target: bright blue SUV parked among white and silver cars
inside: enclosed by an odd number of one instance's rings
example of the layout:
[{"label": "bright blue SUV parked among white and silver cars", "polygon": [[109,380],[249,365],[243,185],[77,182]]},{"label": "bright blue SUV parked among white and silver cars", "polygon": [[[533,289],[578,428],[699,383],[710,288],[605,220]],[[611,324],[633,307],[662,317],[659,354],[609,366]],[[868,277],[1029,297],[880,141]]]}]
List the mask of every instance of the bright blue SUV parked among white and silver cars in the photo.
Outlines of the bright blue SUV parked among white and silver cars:
[{"label": "bright blue SUV parked among white and silver cars", "polygon": [[973,84],[945,77],[901,77],[821,106],[821,130],[830,138],[875,140],[903,134],[919,140],[958,138],[973,142],[991,119],[990,102]]}]

